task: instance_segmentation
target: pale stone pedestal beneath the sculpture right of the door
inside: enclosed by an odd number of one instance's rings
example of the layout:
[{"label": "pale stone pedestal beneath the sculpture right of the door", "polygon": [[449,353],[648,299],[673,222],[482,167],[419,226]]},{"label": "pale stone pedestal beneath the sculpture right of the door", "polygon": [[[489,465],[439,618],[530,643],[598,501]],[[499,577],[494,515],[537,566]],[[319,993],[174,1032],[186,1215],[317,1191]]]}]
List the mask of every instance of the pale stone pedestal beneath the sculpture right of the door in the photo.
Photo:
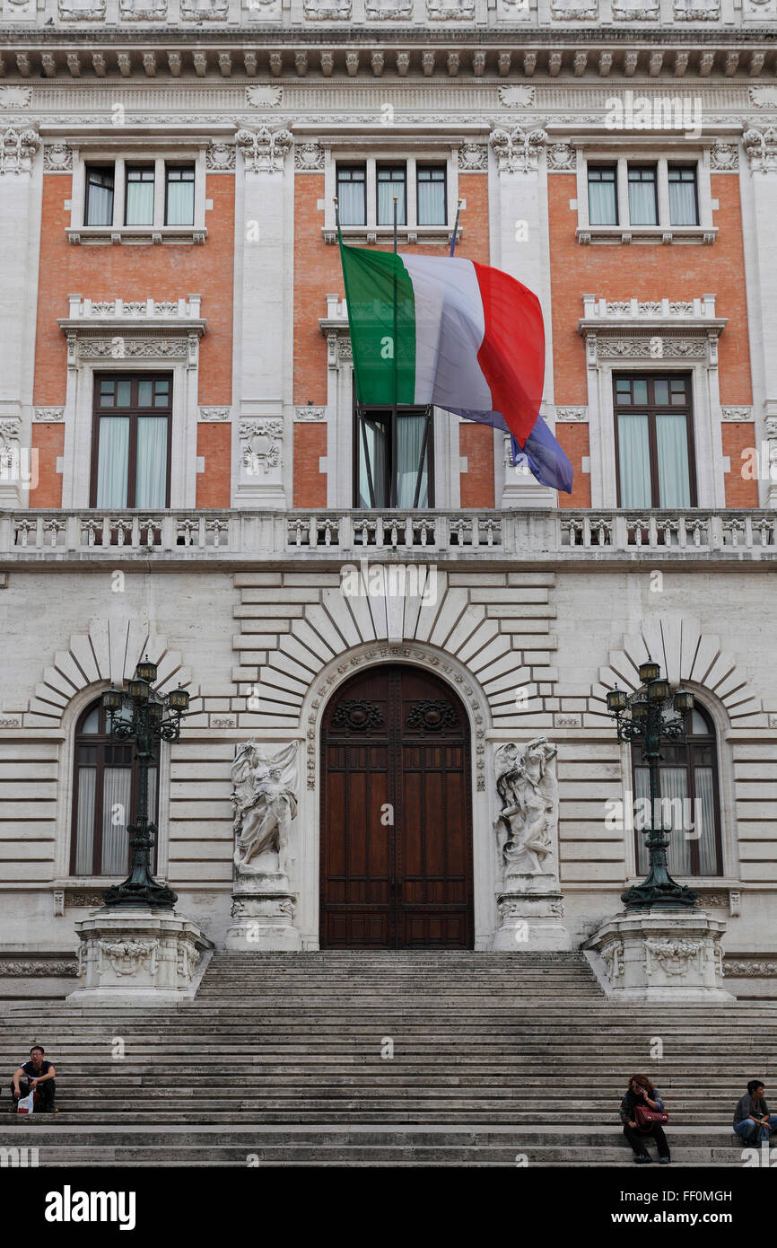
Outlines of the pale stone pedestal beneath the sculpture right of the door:
[{"label": "pale stone pedestal beneath the sculpture right of the door", "polygon": [[496,897],[499,927],[494,948],[569,950],[570,935],[561,922],[564,901],[555,875],[508,875]]}]

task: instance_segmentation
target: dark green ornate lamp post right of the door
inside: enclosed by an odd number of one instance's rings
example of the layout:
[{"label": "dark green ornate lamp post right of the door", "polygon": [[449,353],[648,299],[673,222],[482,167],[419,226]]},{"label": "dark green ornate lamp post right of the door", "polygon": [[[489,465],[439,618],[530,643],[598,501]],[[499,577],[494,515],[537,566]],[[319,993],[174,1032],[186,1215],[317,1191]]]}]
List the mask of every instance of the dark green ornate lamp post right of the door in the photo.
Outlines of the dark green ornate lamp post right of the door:
[{"label": "dark green ornate lamp post right of the door", "polygon": [[617,725],[619,741],[639,740],[650,773],[650,832],[645,841],[650,869],[642,884],[621,894],[621,901],[626,904],[626,910],[695,906],[698,894],[677,884],[668,874],[668,829],[657,816],[661,745],[664,741],[685,743],[685,713],[693,708],[693,694],[687,689],[676,689],[672,694],[668,680],[652,659],[640,664],[640,681],[641,688],[634,694],[626,694],[617,685],[607,694],[607,710]]}]

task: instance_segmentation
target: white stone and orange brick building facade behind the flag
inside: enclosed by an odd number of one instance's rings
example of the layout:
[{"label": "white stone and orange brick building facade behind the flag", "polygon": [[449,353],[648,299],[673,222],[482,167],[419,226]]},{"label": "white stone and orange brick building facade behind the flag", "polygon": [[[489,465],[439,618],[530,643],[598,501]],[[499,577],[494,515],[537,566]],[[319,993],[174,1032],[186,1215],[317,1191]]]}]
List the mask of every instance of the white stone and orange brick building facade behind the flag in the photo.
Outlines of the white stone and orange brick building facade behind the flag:
[{"label": "white stone and orange brick building facade behind the flag", "polygon": [[[661,768],[670,865],[726,919],[733,991],[771,991],[776,20],[4,0],[10,992],[72,987],[74,922],[126,872],[137,778],[99,706],[145,655],[191,695],[157,875],[222,946],[253,741],[254,779],[288,773],[258,914],[302,950],[499,946],[515,766],[545,917],[585,941],[645,871],[646,773],[604,699],[652,656],[697,700]],[[355,411],[335,196],[347,242],[390,247],[397,197],[400,251],[455,232],[535,291],[571,495],[489,427]]]}]

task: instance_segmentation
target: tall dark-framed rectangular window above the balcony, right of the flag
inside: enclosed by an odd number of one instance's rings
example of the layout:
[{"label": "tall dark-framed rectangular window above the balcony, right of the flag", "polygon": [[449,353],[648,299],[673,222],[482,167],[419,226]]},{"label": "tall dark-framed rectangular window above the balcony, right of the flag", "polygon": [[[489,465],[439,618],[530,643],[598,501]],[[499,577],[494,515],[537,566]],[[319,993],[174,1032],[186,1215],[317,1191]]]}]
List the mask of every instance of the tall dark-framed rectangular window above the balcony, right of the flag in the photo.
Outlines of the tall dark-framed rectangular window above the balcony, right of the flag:
[{"label": "tall dark-framed rectangular window above the balcony, right of the flag", "polygon": [[696,507],[691,378],[615,376],[617,505]]}]

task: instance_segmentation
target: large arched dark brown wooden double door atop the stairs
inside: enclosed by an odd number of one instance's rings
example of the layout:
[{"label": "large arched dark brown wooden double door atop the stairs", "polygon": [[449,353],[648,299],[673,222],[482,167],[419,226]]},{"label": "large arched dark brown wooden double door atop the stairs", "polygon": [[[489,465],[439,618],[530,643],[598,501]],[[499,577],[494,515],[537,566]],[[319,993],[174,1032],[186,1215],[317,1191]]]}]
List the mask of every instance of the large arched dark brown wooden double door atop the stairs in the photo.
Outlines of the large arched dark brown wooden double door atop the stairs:
[{"label": "large arched dark brown wooden double door atop the stairs", "polygon": [[469,723],[419,668],[352,676],[322,725],[321,947],[473,948]]}]

